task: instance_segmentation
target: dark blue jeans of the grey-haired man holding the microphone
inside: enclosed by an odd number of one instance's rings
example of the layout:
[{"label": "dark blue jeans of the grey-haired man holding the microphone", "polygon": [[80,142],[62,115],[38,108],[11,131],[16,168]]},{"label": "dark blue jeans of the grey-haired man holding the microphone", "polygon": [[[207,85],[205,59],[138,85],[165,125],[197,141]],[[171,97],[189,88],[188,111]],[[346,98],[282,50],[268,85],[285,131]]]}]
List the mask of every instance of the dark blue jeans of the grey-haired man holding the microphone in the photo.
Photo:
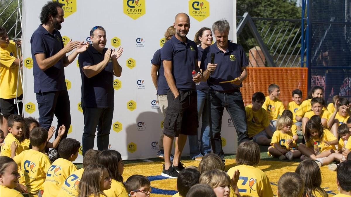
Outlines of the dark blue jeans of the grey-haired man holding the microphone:
[{"label": "dark blue jeans of the grey-haired man holding the microphone", "polygon": [[208,92],[211,104],[210,126],[211,126],[211,145],[214,154],[224,159],[222,140],[220,131],[222,128],[222,116],[224,108],[233,120],[234,127],[238,135],[238,144],[249,140],[247,135],[246,112],[243,97],[239,90],[230,93],[221,93],[216,90]]}]

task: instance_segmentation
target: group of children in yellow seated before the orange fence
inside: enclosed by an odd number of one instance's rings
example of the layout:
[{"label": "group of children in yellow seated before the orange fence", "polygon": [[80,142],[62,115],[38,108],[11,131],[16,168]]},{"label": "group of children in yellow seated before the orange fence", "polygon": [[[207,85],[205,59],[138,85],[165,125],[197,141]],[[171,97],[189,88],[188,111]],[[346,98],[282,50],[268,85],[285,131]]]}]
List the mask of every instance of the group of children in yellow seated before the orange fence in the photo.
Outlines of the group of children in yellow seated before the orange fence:
[{"label": "group of children in yellow seated before the orange fence", "polygon": [[[311,158],[319,166],[346,160],[351,150],[351,107],[347,99],[334,96],[328,111],[322,87],[312,88],[311,99],[303,102],[302,91],[296,89],[285,110],[278,99],[279,86],[271,84],[268,91],[266,97],[261,92],[254,93],[252,105],[245,107],[249,137],[260,145],[270,145],[268,155],[289,160]],[[296,143],[300,130],[306,143]],[[331,170],[336,167],[329,165]]]}]

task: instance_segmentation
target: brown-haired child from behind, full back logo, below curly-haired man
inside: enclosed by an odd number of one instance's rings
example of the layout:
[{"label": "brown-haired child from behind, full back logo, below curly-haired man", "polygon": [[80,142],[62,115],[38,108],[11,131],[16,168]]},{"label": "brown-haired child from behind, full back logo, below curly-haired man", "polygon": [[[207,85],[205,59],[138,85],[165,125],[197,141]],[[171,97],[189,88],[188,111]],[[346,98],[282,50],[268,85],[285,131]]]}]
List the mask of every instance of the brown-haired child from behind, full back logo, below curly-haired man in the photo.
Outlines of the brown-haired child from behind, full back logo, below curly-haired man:
[{"label": "brown-haired child from behind, full back logo, below curly-haired man", "polygon": [[41,151],[46,147],[47,130],[42,127],[34,128],[29,135],[32,149],[22,151],[13,160],[24,173],[29,197],[41,196],[44,190],[46,172],[50,168],[50,160]]}]

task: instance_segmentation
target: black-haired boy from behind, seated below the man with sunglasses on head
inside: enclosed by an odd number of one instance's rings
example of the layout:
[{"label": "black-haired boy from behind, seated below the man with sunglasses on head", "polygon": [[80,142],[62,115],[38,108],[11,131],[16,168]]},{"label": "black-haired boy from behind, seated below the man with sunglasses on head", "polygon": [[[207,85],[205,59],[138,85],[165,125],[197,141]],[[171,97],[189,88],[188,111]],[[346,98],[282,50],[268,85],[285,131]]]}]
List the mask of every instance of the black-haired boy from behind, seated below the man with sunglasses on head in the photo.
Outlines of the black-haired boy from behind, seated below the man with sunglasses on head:
[{"label": "black-haired boy from behind, seated below the man with sunglasses on head", "polygon": [[60,158],[51,164],[46,173],[43,197],[56,196],[66,178],[77,170],[72,163],[78,157],[80,143],[72,138],[63,139],[58,148]]}]

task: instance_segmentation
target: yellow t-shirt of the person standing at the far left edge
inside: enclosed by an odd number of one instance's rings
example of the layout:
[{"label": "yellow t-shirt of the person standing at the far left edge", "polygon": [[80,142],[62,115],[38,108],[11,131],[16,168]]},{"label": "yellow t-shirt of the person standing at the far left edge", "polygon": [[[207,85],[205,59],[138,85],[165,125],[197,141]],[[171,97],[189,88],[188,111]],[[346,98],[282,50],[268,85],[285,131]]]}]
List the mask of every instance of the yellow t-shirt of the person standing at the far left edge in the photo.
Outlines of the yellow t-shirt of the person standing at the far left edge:
[{"label": "yellow t-shirt of the person standing at the far left edge", "polygon": [[[0,98],[13,99],[16,97],[17,79],[19,66],[13,62],[17,58],[19,51],[16,50],[15,43],[10,41],[8,46],[3,49],[0,47]],[[23,93],[22,85],[19,80],[18,96]]]}]

